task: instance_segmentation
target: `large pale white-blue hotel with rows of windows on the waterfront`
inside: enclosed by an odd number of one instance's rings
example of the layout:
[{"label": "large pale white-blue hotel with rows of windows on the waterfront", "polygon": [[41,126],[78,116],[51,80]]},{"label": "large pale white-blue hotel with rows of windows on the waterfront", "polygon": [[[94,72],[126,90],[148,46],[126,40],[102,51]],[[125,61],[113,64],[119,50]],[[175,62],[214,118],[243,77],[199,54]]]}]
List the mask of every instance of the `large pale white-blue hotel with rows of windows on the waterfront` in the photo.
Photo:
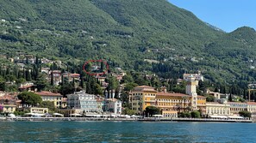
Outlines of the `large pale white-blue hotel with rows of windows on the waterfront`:
[{"label": "large pale white-blue hotel with rows of windows on the waterfront", "polygon": [[79,110],[80,114],[100,112],[97,108],[96,95],[83,92],[74,92],[67,95],[67,107]]}]

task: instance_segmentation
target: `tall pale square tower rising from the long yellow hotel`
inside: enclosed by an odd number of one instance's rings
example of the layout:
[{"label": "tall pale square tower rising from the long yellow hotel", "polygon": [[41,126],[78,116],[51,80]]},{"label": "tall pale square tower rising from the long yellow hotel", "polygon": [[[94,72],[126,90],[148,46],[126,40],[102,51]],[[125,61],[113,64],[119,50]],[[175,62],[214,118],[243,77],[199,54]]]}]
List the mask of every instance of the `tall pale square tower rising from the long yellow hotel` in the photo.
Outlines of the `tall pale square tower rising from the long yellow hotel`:
[{"label": "tall pale square tower rising from the long yellow hotel", "polygon": [[188,77],[186,94],[191,96],[191,105],[193,110],[197,110],[197,81],[193,75]]}]

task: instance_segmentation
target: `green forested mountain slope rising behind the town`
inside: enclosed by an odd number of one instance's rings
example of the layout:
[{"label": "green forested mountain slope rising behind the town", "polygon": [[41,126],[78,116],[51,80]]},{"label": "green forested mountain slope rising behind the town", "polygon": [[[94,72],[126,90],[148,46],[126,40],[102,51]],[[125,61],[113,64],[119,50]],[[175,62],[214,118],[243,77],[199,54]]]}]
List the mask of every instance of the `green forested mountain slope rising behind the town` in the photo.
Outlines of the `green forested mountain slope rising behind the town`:
[{"label": "green forested mountain slope rising behind the town", "polygon": [[[122,69],[203,71],[215,82],[256,79],[255,31],[224,33],[165,0],[2,0],[0,52],[107,59]],[[163,69],[144,59],[159,61]],[[147,61],[147,60],[146,60]],[[168,70],[167,70],[168,69]],[[226,82],[225,81],[225,82]]]}]

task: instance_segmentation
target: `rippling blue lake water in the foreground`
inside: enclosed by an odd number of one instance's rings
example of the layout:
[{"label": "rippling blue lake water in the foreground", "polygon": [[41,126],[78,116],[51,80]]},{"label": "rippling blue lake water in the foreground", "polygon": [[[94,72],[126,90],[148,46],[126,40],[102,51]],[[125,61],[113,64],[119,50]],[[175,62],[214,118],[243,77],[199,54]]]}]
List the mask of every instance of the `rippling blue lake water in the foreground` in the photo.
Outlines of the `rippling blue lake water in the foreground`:
[{"label": "rippling blue lake water in the foreground", "polygon": [[0,122],[0,142],[256,142],[255,123]]}]

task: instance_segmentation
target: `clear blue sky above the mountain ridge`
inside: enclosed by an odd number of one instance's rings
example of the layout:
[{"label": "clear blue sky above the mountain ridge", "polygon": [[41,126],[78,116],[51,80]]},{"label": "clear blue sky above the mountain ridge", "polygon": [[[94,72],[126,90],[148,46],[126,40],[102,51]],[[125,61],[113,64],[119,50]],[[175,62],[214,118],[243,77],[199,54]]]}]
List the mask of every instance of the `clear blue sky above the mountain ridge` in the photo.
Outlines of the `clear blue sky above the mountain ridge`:
[{"label": "clear blue sky above the mountain ridge", "polygon": [[238,27],[256,29],[256,0],[168,0],[209,24],[232,32]]}]

